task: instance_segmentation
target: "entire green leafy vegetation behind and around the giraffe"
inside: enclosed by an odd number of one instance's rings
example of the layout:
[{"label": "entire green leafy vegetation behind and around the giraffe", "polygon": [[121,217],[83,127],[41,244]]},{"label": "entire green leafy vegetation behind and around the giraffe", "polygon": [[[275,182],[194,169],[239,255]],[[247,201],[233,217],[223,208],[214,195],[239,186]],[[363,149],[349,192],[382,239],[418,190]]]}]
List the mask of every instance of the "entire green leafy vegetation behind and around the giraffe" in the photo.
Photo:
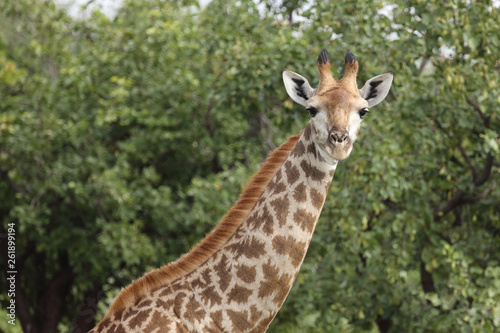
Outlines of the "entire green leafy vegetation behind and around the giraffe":
[{"label": "entire green leafy vegetation behind and around the giraffe", "polygon": [[[391,71],[270,332],[500,331],[500,15],[491,1],[0,2],[0,233],[17,326],[85,332],[305,127],[284,68]],[[5,271],[2,269],[2,276]],[[0,287],[7,290],[5,278]]]}]

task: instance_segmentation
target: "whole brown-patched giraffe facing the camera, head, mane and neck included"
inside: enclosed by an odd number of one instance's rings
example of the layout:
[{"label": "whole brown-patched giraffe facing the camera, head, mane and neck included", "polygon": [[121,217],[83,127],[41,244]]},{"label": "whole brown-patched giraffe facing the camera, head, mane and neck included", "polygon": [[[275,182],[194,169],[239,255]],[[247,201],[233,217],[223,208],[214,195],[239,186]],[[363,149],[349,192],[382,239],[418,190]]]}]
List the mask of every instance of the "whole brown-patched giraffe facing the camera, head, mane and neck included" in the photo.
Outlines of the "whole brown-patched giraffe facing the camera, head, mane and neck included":
[{"label": "whole brown-patched giraffe facing the camera, head, mane and neck included", "polygon": [[328,53],[319,86],[284,70],[285,89],[310,114],[253,176],[238,201],[189,253],[118,295],[90,332],[264,332],[299,272],[338,161],[352,151],[369,107],[386,97],[392,73],[358,89],[348,51],[335,80]]}]

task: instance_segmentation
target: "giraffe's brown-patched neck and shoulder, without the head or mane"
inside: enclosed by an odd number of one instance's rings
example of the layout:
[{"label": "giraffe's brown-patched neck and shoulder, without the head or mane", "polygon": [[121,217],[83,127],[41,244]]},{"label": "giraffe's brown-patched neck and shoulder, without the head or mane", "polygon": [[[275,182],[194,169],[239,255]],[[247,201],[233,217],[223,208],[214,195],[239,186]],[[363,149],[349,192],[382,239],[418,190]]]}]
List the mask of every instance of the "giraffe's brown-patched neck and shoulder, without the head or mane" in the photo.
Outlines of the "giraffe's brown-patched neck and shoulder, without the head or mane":
[{"label": "giraffe's brown-patched neck and shoulder, without the head or mane", "polygon": [[311,131],[308,125],[216,251],[117,308],[95,331],[107,332],[113,322],[124,331],[265,331],[299,272],[337,165],[325,160]]}]

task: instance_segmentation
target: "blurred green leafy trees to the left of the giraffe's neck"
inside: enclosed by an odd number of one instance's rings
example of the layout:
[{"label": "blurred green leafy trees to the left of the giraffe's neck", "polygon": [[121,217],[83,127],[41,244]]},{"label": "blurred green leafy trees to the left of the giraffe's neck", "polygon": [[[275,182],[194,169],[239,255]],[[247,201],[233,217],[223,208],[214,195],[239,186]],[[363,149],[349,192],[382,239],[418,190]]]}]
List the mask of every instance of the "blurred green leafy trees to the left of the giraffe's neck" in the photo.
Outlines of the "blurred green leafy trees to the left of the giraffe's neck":
[{"label": "blurred green leafy trees to the left of the giraffe's neck", "polygon": [[49,2],[3,6],[1,209],[19,235],[18,318],[27,332],[85,331],[98,301],[212,228],[276,145],[271,122],[293,126],[266,112],[291,36],[252,3],[130,1],[81,22]]}]

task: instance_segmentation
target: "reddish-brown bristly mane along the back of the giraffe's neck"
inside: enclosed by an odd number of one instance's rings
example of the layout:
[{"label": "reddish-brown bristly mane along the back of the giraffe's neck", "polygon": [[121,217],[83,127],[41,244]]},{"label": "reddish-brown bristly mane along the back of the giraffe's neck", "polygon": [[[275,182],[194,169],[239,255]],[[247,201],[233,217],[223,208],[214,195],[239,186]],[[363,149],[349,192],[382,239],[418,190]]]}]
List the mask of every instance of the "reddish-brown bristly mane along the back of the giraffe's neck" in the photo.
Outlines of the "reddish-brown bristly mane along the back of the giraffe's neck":
[{"label": "reddish-brown bristly mane along the back of the giraffe's neck", "polygon": [[123,311],[127,306],[136,304],[141,297],[147,295],[149,292],[189,274],[215,254],[243,223],[271,181],[271,178],[290,155],[300,135],[289,137],[287,142],[271,152],[267,160],[262,163],[260,169],[253,175],[251,181],[242,191],[238,201],[198,245],[195,245],[190,252],[184,254],[176,261],[144,274],[141,278],[122,289],[111,305],[106,317]]}]

